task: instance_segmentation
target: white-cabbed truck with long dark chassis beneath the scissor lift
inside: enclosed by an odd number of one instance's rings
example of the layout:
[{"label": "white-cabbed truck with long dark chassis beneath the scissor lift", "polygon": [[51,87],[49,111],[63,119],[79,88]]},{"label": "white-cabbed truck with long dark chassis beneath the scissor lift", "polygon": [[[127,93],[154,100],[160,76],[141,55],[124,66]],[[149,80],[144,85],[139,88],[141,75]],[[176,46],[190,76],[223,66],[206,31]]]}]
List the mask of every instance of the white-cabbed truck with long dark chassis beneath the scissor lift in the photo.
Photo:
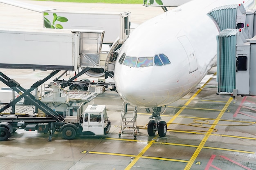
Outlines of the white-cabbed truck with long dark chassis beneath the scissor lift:
[{"label": "white-cabbed truck with long dark chassis beneath the scissor lift", "polygon": [[62,132],[63,138],[72,140],[76,135],[107,135],[111,122],[105,105],[83,105],[77,116],[47,115],[46,117],[22,117],[17,115],[0,116],[0,141],[6,141],[17,129],[49,133],[52,141],[54,132]]}]

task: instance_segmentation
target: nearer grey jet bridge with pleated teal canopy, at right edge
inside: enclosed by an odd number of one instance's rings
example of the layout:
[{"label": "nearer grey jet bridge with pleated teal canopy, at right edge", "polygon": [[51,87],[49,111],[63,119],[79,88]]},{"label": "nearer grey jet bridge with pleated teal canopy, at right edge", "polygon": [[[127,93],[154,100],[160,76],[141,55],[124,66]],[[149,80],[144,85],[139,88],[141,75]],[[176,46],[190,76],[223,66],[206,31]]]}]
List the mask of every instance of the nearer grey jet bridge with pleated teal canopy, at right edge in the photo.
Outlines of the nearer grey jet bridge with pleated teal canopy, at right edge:
[{"label": "nearer grey jet bridge with pleated teal canopy, at right edge", "polygon": [[256,10],[244,10],[234,18],[235,28],[217,36],[217,94],[256,95]]}]

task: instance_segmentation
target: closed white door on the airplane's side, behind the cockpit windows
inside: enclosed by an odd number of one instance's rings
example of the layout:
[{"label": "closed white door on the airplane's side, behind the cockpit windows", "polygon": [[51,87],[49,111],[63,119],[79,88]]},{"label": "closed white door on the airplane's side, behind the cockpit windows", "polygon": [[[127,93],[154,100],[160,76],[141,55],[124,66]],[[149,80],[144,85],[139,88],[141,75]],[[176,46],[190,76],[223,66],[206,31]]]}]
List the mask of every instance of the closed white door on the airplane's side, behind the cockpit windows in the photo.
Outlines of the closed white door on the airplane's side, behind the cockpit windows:
[{"label": "closed white door on the airplane's side, behind the cockpit windows", "polygon": [[189,39],[186,36],[179,37],[178,40],[180,41],[184,50],[186,51],[186,55],[189,59],[189,66],[190,66],[189,73],[192,73],[198,69],[198,63],[197,63],[193,46],[191,45],[191,43],[189,42]]}]

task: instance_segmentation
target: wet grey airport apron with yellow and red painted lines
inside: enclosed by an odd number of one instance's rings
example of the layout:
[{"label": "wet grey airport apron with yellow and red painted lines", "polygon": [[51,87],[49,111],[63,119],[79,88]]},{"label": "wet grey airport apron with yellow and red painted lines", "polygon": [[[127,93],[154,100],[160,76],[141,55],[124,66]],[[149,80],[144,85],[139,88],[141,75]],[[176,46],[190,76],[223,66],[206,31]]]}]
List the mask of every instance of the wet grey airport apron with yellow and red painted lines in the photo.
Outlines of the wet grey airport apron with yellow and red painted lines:
[{"label": "wet grey airport apron with yellow and red painted lines", "polygon": [[[161,8],[130,4],[76,4],[22,0],[58,9],[131,11],[140,24],[162,13]],[[0,27],[42,26],[42,14],[0,3]],[[8,27],[8,26],[7,26]],[[6,27],[6,28],[7,28]],[[29,88],[49,71],[0,69]],[[149,137],[145,109],[138,108],[137,138],[119,137],[124,102],[116,92],[106,91],[94,99],[106,105],[112,126],[108,135],[63,139],[48,134],[16,130],[0,142],[1,170],[256,170],[256,98],[216,95],[215,70],[188,95],[169,104],[161,113],[168,123],[165,137]],[[71,76],[72,72],[69,73]],[[69,77],[70,75],[65,75]],[[97,81],[96,78],[88,78]],[[112,81],[108,79],[108,81]],[[0,84],[0,87],[4,87]],[[150,110],[152,111],[152,110]]]}]

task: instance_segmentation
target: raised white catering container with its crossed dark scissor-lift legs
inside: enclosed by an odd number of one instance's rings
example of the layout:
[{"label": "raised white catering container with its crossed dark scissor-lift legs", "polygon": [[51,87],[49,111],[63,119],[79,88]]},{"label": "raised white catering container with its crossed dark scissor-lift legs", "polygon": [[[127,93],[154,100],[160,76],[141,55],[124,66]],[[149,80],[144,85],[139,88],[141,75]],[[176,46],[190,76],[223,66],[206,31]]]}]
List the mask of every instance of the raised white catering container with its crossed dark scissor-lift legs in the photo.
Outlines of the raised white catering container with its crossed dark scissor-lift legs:
[{"label": "raised white catering container with its crossed dark scissor-lift legs", "polygon": [[62,121],[61,115],[31,92],[61,70],[78,71],[79,67],[85,67],[81,71],[84,73],[90,68],[104,69],[106,63],[101,61],[106,61],[107,56],[105,53],[103,58],[101,56],[103,36],[103,30],[0,30],[0,68],[53,70],[29,89],[0,72],[0,81],[20,95],[0,108],[0,113],[9,107],[12,107],[11,114],[16,113],[16,103],[24,98],[36,106],[36,110],[40,109],[54,120]]}]

